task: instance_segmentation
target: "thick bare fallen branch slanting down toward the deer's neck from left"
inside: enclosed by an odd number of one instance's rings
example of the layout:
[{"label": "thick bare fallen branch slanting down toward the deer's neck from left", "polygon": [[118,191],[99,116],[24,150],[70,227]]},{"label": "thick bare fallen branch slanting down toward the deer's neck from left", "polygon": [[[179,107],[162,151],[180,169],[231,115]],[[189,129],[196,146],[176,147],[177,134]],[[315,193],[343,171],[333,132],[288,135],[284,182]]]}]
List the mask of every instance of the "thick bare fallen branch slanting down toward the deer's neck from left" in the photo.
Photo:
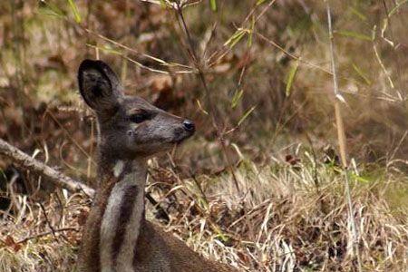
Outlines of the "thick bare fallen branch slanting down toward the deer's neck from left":
[{"label": "thick bare fallen branch slanting down toward the deer's neck from left", "polygon": [[15,148],[6,141],[0,139],[0,155],[4,155],[7,158],[13,160],[20,167],[31,170],[35,173],[42,175],[47,180],[53,182],[54,185],[68,189],[73,192],[83,191],[88,196],[92,197],[94,195],[94,189],[86,186],[82,182],[73,180],[63,173],[53,170],[51,167],[47,166],[39,160],[35,160],[32,157],[25,154],[23,151]]}]

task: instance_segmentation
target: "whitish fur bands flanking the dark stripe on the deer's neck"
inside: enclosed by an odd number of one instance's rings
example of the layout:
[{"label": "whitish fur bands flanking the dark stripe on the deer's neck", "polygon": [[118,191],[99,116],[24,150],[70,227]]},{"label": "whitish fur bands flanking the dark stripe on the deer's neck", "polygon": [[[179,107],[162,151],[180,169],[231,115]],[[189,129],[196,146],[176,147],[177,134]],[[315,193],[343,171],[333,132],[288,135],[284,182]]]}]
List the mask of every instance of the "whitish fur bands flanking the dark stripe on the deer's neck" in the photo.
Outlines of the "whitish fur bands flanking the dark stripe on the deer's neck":
[{"label": "whitish fur bands flanking the dark stripe on the deer's neck", "polygon": [[[113,167],[113,175],[116,177],[116,174],[120,172],[117,176],[119,177],[123,170],[124,162],[119,160]],[[101,224],[100,259],[103,272],[129,271],[132,267],[133,248],[135,248],[139,228],[141,227],[145,181],[145,166],[133,161],[131,172],[125,173],[122,180],[118,181],[112,189]],[[112,243],[119,227],[117,224],[121,212],[121,200],[124,199],[126,190],[134,185],[139,188],[138,195],[134,196],[136,200],[134,201],[132,214],[129,215],[131,219],[125,230],[121,251],[117,256],[117,267],[113,267]]]}]

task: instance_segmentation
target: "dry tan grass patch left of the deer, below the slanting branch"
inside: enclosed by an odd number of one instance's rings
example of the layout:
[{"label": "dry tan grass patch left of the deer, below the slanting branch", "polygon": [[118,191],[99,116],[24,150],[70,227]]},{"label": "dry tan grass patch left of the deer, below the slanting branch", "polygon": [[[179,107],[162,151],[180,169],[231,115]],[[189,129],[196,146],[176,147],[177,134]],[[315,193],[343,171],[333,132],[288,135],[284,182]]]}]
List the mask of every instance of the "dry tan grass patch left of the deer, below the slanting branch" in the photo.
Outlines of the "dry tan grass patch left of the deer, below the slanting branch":
[{"label": "dry tan grass patch left of the deer, below the slanting branch", "polygon": [[51,196],[45,215],[38,203],[16,196],[14,214],[1,221],[0,271],[73,270],[85,203],[81,196],[61,200]]}]

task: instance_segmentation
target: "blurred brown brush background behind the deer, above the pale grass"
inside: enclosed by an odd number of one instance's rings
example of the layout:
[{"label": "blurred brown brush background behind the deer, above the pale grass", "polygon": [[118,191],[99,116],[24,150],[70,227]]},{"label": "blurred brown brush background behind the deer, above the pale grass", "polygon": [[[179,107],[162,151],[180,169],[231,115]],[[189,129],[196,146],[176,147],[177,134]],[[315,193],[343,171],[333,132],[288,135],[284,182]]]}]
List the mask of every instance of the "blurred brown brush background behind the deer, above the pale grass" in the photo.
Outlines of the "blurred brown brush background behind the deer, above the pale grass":
[{"label": "blurred brown brush background behind the deer, above the pale grass", "polygon": [[[338,99],[348,161],[363,183],[401,180],[387,195],[406,210],[407,1],[330,1],[337,98],[325,1],[181,2],[1,1],[0,138],[94,186],[96,124],[76,82],[84,58],[110,63],[127,94],[196,122],[193,139],[153,161],[178,179],[243,162],[275,173],[303,167],[305,154],[339,165]],[[0,169],[15,170],[4,158]]]}]

